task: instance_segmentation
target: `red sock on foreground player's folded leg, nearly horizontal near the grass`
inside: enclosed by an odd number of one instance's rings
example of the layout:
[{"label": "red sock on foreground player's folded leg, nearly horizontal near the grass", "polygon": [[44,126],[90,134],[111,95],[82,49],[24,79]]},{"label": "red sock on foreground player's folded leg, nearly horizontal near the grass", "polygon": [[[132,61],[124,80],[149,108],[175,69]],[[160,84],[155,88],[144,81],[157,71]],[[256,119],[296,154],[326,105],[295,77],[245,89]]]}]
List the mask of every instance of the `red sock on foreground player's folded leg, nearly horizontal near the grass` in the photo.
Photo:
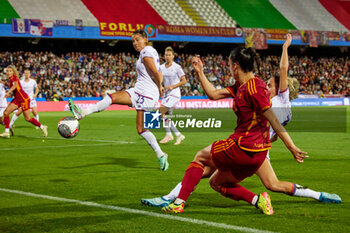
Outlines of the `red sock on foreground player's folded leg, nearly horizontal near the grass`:
[{"label": "red sock on foreground player's folded leg, nearly horizontal near the grass", "polygon": [[233,184],[230,185],[230,187],[222,187],[220,193],[228,198],[231,198],[233,200],[239,201],[243,200],[248,203],[252,203],[253,198],[255,197],[255,194],[249,191],[248,189],[244,188],[243,186],[239,184]]}]

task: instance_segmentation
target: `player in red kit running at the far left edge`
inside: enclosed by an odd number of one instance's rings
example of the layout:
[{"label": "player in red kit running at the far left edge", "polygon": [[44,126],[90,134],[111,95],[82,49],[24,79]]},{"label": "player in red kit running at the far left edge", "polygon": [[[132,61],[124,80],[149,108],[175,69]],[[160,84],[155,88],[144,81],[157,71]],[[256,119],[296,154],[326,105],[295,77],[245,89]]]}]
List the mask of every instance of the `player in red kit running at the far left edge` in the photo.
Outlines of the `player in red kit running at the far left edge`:
[{"label": "player in red kit running at the far left edge", "polygon": [[18,71],[14,66],[8,66],[6,68],[6,74],[9,80],[9,90],[6,92],[5,97],[10,97],[13,93],[14,99],[7,106],[4,112],[4,124],[5,132],[0,134],[0,137],[10,138],[10,117],[9,115],[18,108],[22,108],[24,119],[35,126],[38,126],[42,131],[44,137],[47,137],[47,126],[42,125],[35,118],[30,116],[30,98],[27,93],[24,92],[21,83],[18,78]]}]

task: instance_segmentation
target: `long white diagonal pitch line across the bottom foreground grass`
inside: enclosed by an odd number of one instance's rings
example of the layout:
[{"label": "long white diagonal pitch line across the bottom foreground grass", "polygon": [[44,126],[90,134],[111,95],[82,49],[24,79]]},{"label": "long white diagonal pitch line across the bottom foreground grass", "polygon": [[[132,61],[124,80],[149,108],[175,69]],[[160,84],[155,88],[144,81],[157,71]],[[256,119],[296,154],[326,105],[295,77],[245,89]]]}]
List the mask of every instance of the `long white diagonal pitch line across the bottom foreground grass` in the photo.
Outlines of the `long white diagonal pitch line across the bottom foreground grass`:
[{"label": "long white diagonal pitch line across the bottom foreground grass", "polygon": [[113,206],[113,205],[104,205],[104,204],[99,204],[99,203],[89,202],[89,201],[79,201],[79,200],[62,198],[62,197],[47,196],[47,195],[42,195],[42,194],[23,192],[23,191],[19,191],[19,190],[0,188],[0,191],[7,192],[7,193],[15,193],[15,194],[19,194],[19,195],[25,195],[25,196],[31,196],[31,197],[37,197],[37,198],[43,198],[43,199],[49,199],[49,200],[54,200],[54,201],[76,203],[76,204],[84,205],[84,206],[91,206],[91,207],[97,207],[97,208],[103,208],[103,209],[123,211],[123,212],[128,212],[128,213],[133,213],[133,214],[141,214],[141,215],[152,216],[152,217],[157,217],[157,218],[165,218],[165,219],[170,219],[170,220],[174,220],[174,221],[187,222],[187,223],[193,223],[193,224],[198,224],[198,225],[204,224],[207,226],[212,226],[212,227],[216,227],[216,228],[223,228],[223,229],[227,229],[227,230],[236,230],[236,231],[251,232],[251,233],[272,233],[271,231],[264,231],[264,230],[249,228],[249,227],[240,227],[240,226],[228,225],[225,223],[210,222],[210,221],[205,221],[205,220],[200,220],[200,219],[195,219],[195,218],[185,218],[185,217],[179,217],[179,216],[174,216],[174,215],[170,215],[170,214],[158,214],[158,213],[148,212],[148,211],[143,211],[143,210],[130,209],[130,208],[125,208],[125,207]]}]

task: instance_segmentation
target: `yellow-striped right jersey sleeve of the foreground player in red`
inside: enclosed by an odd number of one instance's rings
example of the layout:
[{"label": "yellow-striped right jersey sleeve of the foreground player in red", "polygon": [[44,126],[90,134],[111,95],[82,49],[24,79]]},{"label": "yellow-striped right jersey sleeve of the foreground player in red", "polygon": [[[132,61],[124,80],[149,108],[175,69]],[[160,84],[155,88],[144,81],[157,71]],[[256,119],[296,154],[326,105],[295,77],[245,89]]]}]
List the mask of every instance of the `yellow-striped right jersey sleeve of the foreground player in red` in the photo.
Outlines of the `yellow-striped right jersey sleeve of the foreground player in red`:
[{"label": "yellow-striped right jersey sleeve of the foreground player in red", "polygon": [[272,107],[270,91],[262,82],[255,82],[255,80],[248,82],[248,93],[254,109],[258,111],[265,111]]}]

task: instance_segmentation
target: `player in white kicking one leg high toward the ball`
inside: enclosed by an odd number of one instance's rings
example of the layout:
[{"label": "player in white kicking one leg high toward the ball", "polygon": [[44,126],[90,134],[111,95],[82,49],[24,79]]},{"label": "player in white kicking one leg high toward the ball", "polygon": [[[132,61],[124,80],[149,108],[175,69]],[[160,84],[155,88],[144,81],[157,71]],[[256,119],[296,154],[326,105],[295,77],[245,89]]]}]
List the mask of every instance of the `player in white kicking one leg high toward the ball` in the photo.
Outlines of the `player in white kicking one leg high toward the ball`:
[{"label": "player in white kicking one leg high toward the ball", "polygon": [[112,104],[129,105],[136,109],[137,132],[147,141],[158,157],[160,169],[168,170],[168,155],[164,153],[153,133],[143,128],[143,112],[154,110],[160,95],[163,93],[163,76],[159,72],[159,56],[157,50],[148,45],[147,34],[143,30],[136,30],[132,34],[132,43],[136,51],[140,52],[140,57],[136,63],[137,82],[134,88],[126,91],[117,91],[111,95],[106,95],[103,100],[88,107],[80,109],[69,100],[69,107],[74,117],[78,120],[95,112],[100,112]]}]

